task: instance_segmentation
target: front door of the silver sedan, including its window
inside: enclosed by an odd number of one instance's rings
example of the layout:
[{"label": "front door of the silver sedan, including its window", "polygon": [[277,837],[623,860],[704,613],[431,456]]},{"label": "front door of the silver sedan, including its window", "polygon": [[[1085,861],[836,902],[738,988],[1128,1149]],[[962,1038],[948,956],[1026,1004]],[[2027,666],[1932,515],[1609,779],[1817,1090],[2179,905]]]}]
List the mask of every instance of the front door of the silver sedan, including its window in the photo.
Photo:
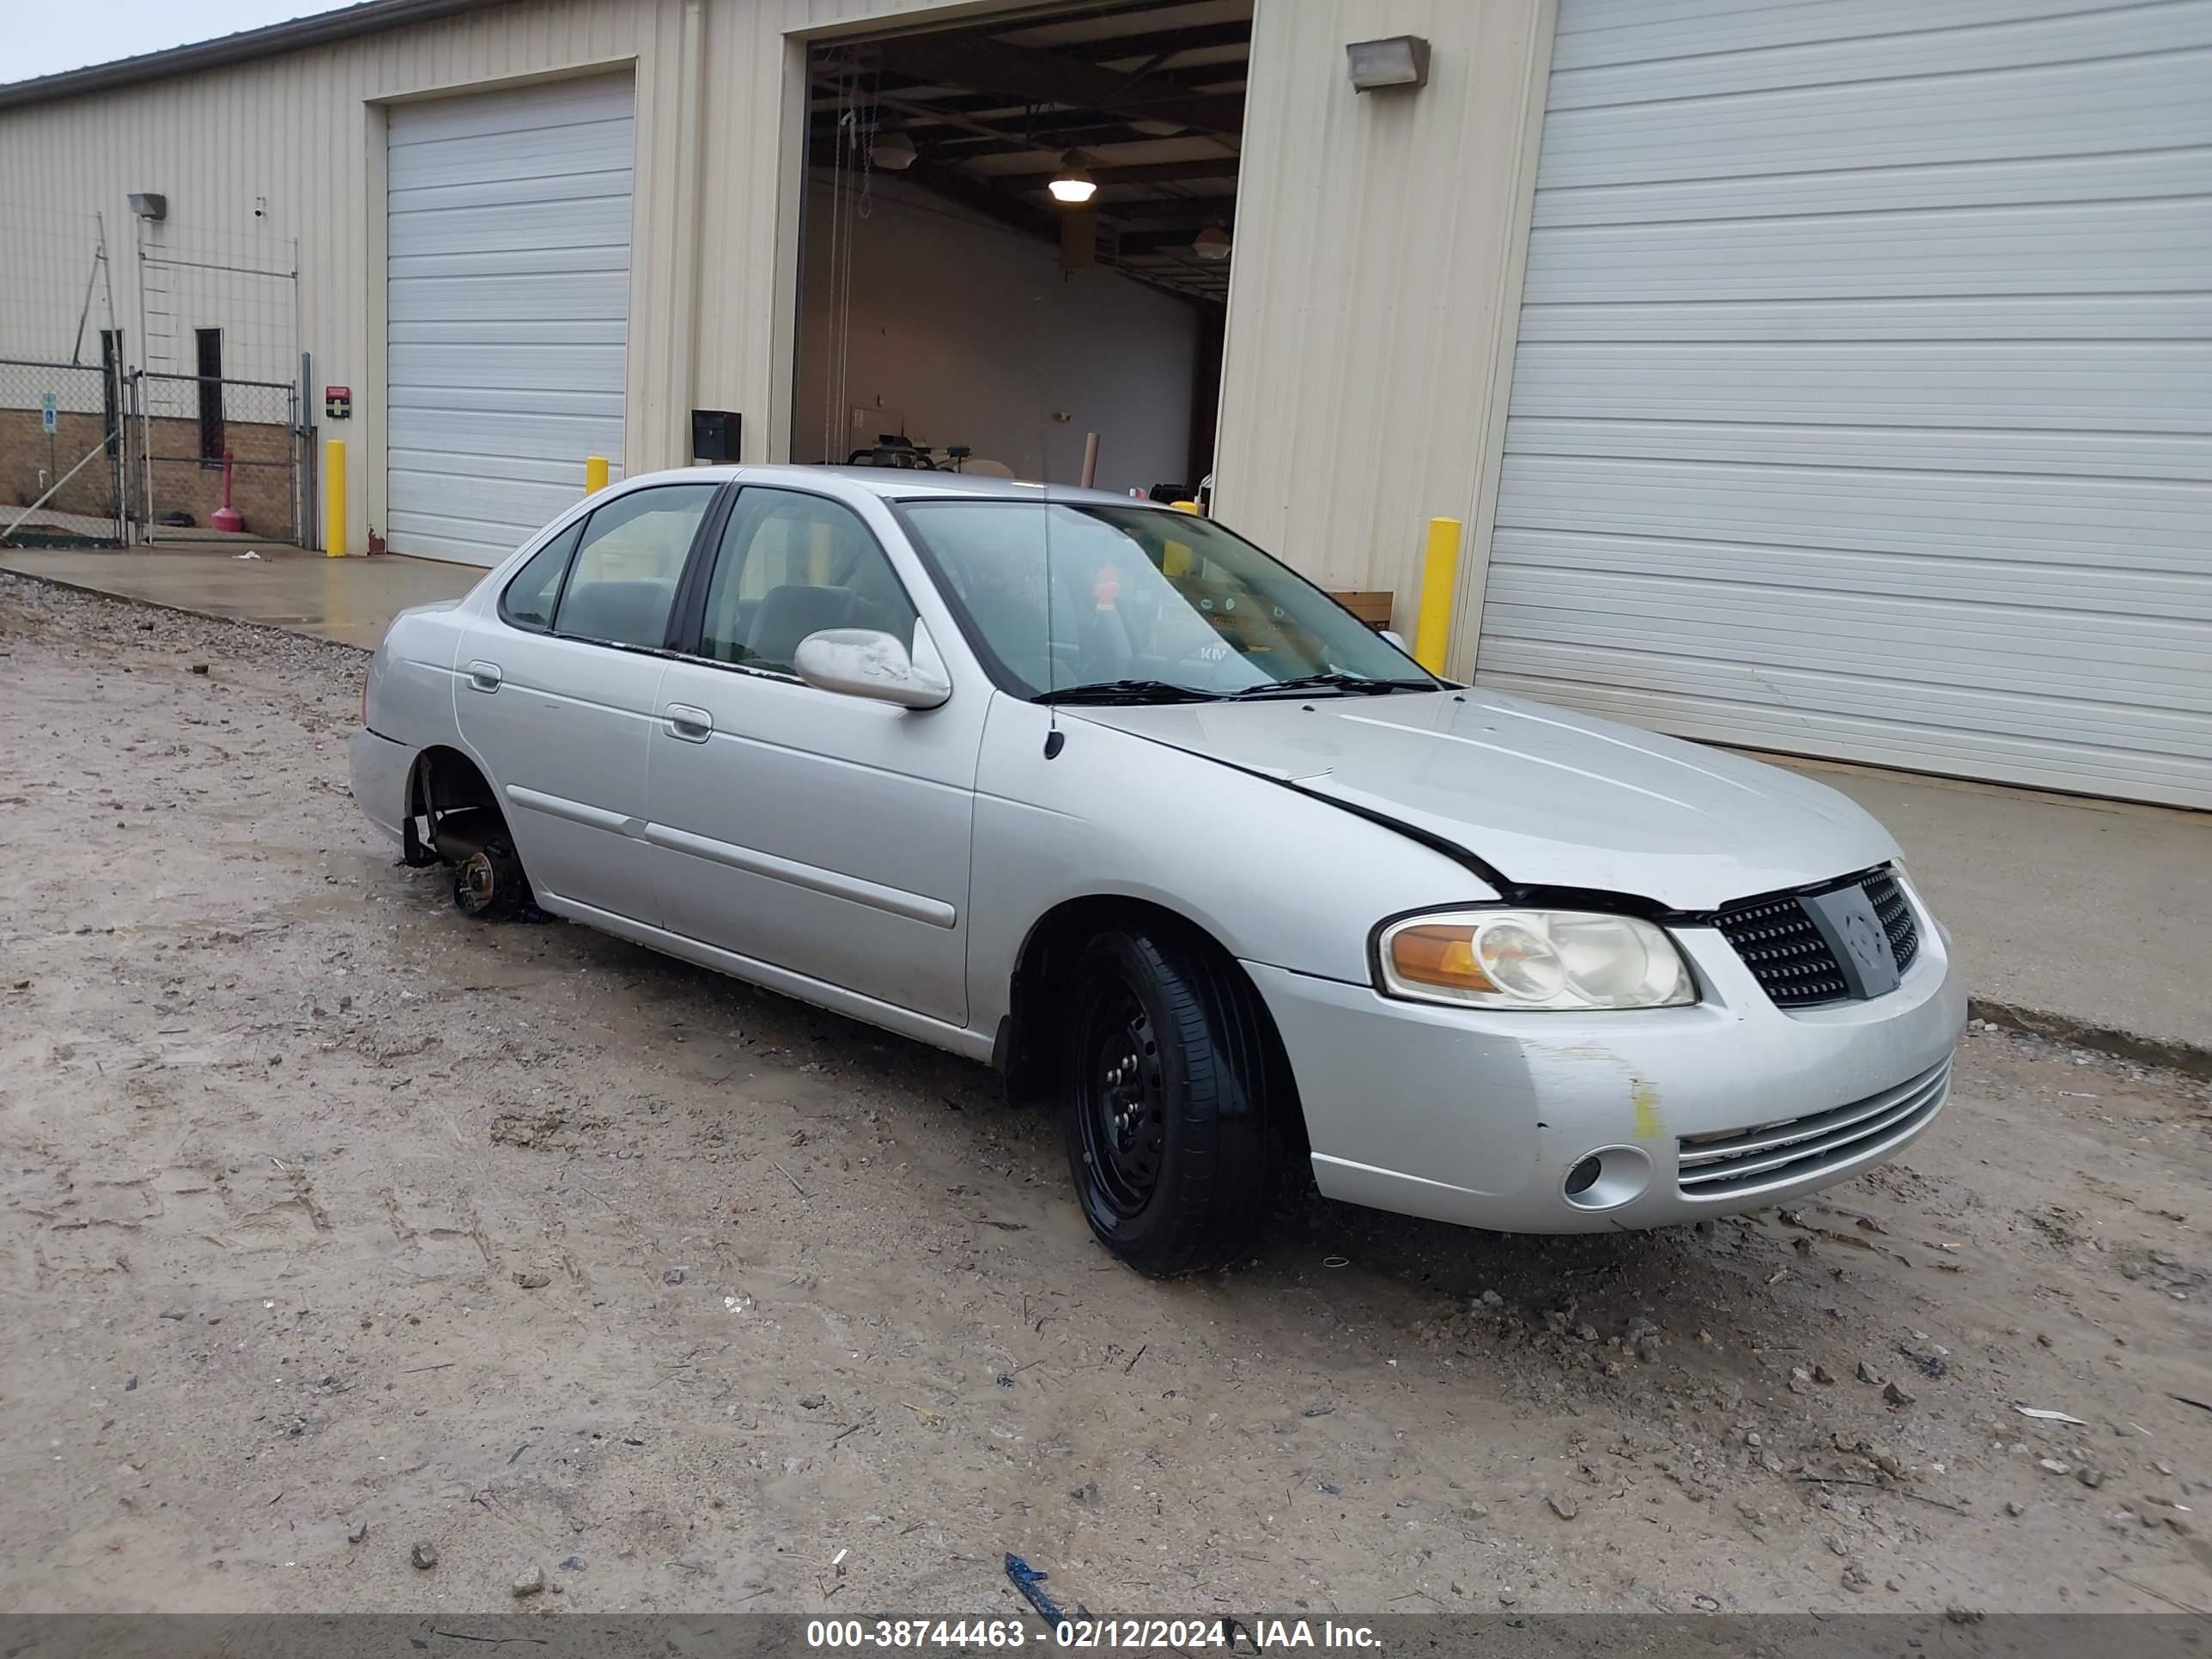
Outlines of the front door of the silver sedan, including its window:
[{"label": "front door of the silver sedan, including its window", "polygon": [[799,679],[823,628],[916,639],[860,515],[745,484],[661,677],[655,872],[670,931],[896,1009],[967,1020],[969,825],[989,699],[907,710]]}]

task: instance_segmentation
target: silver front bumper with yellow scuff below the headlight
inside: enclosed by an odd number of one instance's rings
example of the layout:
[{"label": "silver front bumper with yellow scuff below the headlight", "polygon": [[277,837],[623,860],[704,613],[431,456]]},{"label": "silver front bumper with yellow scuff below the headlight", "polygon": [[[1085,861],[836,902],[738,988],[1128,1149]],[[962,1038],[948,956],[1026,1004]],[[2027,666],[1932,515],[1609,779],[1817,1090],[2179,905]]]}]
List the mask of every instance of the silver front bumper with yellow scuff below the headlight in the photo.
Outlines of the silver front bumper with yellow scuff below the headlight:
[{"label": "silver front bumper with yellow scuff below the headlight", "polygon": [[[1913,902],[1922,947],[1896,991],[1798,1013],[1712,929],[1672,933],[1705,987],[1688,1009],[1498,1013],[1245,971],[1327,1197],[1500,1232],[1659,1228],[1845,1181],[1927,1130],[1966,991]],[[1577,1203],[1566,1177],[1593,1152],[1606,1172]]]}]

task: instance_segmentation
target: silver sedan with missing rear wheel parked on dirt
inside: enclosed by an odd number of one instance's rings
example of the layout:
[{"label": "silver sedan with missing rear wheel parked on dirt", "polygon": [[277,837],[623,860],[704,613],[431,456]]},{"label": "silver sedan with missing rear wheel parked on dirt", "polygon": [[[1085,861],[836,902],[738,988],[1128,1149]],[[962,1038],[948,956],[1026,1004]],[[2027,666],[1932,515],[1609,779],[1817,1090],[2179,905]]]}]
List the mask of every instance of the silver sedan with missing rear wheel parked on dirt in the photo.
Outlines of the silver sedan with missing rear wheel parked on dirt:
[{"label": "silver sedan with missing rear wheel parked on dirt", "polygon": [[1964,991],[1792,772],[1420,670],[1221,524],[916,471],[628,480],[398,617],[354,796],[529,907],[989,1062],[1130,1265],[1334,1199],[1774,1203],[1942,1108]]}]

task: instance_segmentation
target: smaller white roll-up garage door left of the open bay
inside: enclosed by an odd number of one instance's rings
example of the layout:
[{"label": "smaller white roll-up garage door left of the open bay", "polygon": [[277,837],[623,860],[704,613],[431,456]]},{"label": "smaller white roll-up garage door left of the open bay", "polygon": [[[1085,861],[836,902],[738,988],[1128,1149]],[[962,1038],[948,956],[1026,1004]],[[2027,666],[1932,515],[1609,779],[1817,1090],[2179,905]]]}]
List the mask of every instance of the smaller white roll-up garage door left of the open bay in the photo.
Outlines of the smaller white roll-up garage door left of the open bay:
[{"label": "smaller white roll-up garage door left of the open bay", "polygon": [[396,104],[387,124],[385,540],[498,564],[622,476],[628,75]]}]

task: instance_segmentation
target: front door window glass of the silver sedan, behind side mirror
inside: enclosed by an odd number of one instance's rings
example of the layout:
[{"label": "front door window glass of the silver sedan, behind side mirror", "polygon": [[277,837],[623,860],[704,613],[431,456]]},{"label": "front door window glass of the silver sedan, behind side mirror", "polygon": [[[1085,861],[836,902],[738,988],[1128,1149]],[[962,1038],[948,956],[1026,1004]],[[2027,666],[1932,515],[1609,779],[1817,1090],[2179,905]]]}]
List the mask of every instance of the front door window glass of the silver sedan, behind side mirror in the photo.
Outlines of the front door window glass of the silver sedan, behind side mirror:
[{"label": "front door window glass of the silver sedan, behind side mirror", "polygon": [[876,628],[914,641],[914,602],[849,507],[748,487],[714,551],[699,655],[792,672],[799,641],[825,628]]}]

